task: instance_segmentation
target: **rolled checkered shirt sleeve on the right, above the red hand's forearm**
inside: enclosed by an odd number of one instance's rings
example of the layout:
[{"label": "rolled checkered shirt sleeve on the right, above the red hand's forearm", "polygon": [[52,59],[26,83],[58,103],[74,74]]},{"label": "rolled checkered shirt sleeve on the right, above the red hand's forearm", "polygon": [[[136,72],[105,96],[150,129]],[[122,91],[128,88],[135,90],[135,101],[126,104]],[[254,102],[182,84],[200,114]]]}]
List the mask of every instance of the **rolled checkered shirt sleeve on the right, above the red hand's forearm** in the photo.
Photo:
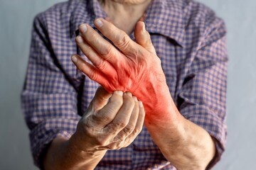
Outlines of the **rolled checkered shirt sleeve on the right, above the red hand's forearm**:
[{"label": "rolled checkered shirt sleeve on the right, above the red hand's forearm", "polygon": [[179,111],[206,130],[215,142],[216,154],[209,168],[220,159],[226,141],[226,84],[228,56],[225,23],[208,18],[196,55],[178,94]]}]

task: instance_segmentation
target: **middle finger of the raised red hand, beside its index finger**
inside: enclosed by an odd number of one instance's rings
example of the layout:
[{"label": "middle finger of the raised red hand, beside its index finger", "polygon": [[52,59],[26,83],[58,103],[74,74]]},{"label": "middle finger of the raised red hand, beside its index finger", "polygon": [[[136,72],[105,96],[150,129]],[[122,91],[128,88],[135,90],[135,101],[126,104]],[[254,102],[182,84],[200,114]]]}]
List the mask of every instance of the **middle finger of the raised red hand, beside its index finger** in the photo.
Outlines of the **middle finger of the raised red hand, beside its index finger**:
[{"label": "middle finger of the raised red hand, beside its index finger", "polygon": [[100,57],[103,57],[103,59],[111,63],[118,61],[117,53],[119,53],[119,51],[111,45],[110,42],[102,38],[92,27],[87,24],[82,24],[79,30],[82,38],[95,49]]}]

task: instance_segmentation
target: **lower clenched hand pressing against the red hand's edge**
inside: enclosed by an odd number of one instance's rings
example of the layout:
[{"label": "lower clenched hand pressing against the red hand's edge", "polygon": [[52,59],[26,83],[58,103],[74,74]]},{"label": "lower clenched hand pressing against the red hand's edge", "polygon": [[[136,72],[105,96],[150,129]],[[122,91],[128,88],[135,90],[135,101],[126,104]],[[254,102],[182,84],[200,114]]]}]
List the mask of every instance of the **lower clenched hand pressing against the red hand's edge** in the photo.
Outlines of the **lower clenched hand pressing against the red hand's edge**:
[{"label": "lower clenched hand pressing against the red hand's edge", "polygon": [[141,132],[144,116],[142,102],[131,93],[109,94],[99,87],[78,123],[73,144],[88,154],[127,147]]}]

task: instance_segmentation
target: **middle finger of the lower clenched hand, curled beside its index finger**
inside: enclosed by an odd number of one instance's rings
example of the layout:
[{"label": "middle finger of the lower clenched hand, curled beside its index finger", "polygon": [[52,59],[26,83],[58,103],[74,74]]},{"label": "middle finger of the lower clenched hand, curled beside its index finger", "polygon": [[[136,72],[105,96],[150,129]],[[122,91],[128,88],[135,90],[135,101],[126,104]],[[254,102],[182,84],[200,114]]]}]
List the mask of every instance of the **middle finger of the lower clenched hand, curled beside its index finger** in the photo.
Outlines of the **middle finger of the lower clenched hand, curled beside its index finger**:
[{"label": "middle finger of the lower clenched hand, curled beside its index finger", "polygon": [[122,107],[119,109],[116,117],[112,123],[106,127],[107,132],[112,132],[113,138],[128,125],[134,109],[134,99],[132,98],[131,93],[124,93],[123,100]]}]

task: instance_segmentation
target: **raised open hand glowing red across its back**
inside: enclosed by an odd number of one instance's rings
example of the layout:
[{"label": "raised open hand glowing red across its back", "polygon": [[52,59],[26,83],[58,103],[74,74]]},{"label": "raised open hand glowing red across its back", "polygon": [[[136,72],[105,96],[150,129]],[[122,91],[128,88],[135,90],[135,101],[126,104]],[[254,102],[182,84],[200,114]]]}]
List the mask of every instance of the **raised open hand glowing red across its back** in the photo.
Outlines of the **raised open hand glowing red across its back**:
[{"label": "raised open hand glowing red across its back", "polygon": [[107,91],[129,91],[144,103],[146,120],[163,118],[172,100],[161,60],[156,55],[144,23],[139,21],[134,30],[134,42],[123,30],[98,18],[95,26],[118,48],[102,38],[87,24],[80,26],[76,42],[89,64],[78,55],[72,57],[75,65],[90,79]]}]

